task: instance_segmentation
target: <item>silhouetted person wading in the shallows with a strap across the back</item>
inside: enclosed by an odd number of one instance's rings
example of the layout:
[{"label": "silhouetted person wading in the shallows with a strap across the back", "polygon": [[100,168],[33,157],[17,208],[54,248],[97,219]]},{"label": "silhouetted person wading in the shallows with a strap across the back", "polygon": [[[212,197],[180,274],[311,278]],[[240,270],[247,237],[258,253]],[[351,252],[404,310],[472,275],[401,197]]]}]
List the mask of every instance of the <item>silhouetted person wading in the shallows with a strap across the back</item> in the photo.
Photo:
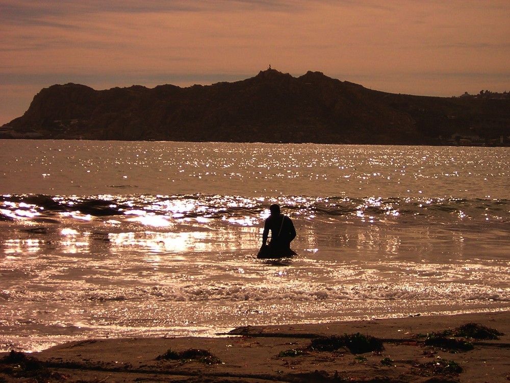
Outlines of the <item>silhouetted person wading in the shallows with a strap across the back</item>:
[{"label": "silhouetted person wading in the shallows with a strap across the back", "polygon": [[[296,254],[290,248],[290,243],[296,237],[296,229],[292,220],[280,212],[280,207],[276,204],[269,207],[271,215],[264,223],[264,232],[262,233],[262,247],[267,246],[267,237],[271,230],[271,240],[269,249],[265,249],[266,257],[285,257]],[[262,249],[261,249],[262,250]],[[261,255],[262,251],[259,253]]]}]

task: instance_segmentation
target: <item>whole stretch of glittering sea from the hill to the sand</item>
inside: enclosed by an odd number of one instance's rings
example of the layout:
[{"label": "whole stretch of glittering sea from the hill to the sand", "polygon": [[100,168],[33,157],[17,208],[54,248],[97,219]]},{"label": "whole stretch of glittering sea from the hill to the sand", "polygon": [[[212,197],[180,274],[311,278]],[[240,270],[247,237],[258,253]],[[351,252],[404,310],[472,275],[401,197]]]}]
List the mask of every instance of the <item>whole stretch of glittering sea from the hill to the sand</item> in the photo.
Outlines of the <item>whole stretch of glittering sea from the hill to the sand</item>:
[{"label": "whole stretch of glittering sea from the hill to the sand", "polygon": [[507,310],[509,153],[0,140],[0,350]]}]

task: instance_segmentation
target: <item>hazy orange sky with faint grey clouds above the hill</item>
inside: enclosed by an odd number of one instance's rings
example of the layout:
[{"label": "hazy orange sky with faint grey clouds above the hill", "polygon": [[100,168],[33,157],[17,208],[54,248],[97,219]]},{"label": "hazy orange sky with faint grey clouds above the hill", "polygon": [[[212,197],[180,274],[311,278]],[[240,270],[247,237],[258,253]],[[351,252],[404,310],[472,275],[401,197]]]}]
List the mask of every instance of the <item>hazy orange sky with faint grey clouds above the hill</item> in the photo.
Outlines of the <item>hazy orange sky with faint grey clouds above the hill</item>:
[{"label": "hazy orange sky with faint grey clouds above the hill", "polygon": [[510,91],[509,0],[0,0],[0,125],[43,87],[235,81],[269,64],[395,93]]}]

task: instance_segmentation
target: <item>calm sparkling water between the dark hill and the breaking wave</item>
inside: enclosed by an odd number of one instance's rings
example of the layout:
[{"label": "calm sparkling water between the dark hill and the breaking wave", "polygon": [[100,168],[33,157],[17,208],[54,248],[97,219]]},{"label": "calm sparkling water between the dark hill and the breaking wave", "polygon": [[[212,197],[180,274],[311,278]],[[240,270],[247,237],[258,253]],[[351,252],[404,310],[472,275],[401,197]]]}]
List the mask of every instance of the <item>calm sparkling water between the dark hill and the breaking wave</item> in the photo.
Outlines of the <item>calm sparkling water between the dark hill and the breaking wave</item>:
[{"label": "calm sparkling water between the dark hill and the breaking wave", "polygon": [[49,195],[506,198],[509,174],[506,148],[2,140],[0,160],[3,193]]}]

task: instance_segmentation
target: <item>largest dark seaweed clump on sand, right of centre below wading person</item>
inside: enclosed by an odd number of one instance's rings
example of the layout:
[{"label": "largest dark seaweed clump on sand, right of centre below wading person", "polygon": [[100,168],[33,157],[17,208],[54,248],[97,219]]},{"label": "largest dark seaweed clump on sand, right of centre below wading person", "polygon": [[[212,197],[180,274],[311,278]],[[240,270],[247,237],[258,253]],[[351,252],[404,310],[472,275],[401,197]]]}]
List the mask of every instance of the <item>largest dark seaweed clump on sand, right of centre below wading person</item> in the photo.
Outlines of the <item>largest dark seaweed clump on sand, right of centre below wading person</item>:
[{"label": "largest dark seaweed clump on sand, right of centre below wading person", "polygon": [[313,351],[335,351],[345,347],[353,354],[363,354],[365,352],[382,351],[382,341],[369,335],[344,334],[343,336],[320,337],[313,339],[308,346]]}]

